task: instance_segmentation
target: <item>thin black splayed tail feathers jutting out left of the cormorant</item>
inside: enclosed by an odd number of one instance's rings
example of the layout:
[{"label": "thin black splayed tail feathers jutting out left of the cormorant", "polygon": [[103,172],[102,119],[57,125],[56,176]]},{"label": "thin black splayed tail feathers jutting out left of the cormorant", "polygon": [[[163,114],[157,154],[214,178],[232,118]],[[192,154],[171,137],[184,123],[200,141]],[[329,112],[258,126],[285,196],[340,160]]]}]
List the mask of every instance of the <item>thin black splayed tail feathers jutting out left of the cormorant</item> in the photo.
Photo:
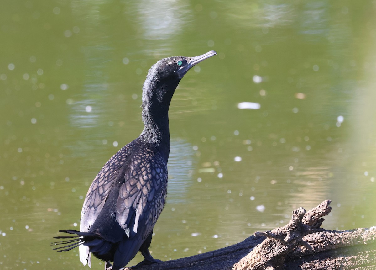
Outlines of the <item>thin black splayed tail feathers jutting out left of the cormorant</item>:
[{"label": "thin black splayed tail feathers jutting out left of the cormorant", "polygon": [[[56,250],[57,252],[69,251],[71,249],[74,249],[75,247],[85,244],[85,242],[87,242],[88,240],[89,241],[94,240],[95,238],[99,237],[99,235],[92,233],[92,232],[80,232],[76,230],[62,230],[59,232],[65,232],[67,234],[74,234],[74,235],[62,235],[62,236],[54,237],[56,239],[68,239],[68,240],[51,243],[51,246],[64,245],[64,246],[59,246],[53,249],[53,250]],[[85,240],[83,239],[84,237],[85,237]]]}]

